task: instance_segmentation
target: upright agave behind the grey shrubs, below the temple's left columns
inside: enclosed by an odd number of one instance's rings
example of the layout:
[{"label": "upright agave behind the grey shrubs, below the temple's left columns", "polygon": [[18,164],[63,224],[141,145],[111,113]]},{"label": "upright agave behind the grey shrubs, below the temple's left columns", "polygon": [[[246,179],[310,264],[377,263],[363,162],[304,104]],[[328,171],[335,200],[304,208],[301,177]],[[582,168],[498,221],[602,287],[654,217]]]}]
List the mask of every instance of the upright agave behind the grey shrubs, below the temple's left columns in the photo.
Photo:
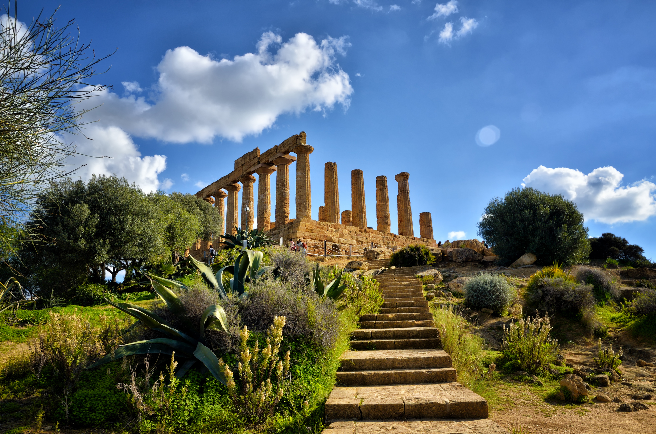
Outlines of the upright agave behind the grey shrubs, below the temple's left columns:
[{"label": "upright agave behind the grey shrubs, below the temple's left columns", "polygon": [[[249,282],[255,282],[257,279],[262,277],[266,271],[272,271],[274,277],[277,275],[279,267],[261,267],[262,258],[264,255],[262,252],[256,250],[244,250],[237,256],[235,259],[235,264],[232,266],[225,266],[214,272],[214,269],[195,258],[190,256],[190,259],[200,271],[203,279],[207,282],[207,285],[215,289],[220,296],[227,300],[228,292],[232,292],[239,300],[245,300],[248,298],[248,292],[246,290],[246,284]],[[230,287],[223,285],[223,273],[228,272],[232,274],[232,279],[230,279]]]}]

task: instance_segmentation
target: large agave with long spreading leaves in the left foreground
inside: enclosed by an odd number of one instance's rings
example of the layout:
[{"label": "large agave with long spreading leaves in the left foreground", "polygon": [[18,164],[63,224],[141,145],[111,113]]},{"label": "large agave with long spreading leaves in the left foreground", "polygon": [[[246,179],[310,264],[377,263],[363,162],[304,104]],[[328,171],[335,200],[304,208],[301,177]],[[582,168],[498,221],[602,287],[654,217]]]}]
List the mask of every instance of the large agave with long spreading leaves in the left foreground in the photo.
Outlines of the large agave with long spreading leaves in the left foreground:
[{"label": "large agave with long spreading leaves in the left foreground", "polygon": [[186,286],[177,281],[165,279],[163,277],[148,275],[152,279],[155,292],[166,304],[167,308],[178,319],[180,326],[178,328],[167,323],[163,318],[155,313],[129,303],[113,303],[106,300],[109,304],[117,309],[131,315],[141,321],[148,328],[161,332],[165,337],[149,340],[131,342],[130,344],[120,345],[112,354],[108,354],[87,369],[109,363],[116,359],[121,359],[135,354],[165,354],[171,355],[175,351],[176,357],[184,361],[178,367],[176,376],[182,378],[184,374],[194,365],[204,365],[207,370],[215,376],[216,380],[226,384],[226,378],[219,369],[218,359],[215,353],[207,347],[205,340],[205,330],[223,330],[228,331],[228,319],[226,312],[218,304],[207,307],[199,324],[194,325],[187,316],[187,311],[182,306],[180,298],[172,290],[173,288],[187,289]]}]

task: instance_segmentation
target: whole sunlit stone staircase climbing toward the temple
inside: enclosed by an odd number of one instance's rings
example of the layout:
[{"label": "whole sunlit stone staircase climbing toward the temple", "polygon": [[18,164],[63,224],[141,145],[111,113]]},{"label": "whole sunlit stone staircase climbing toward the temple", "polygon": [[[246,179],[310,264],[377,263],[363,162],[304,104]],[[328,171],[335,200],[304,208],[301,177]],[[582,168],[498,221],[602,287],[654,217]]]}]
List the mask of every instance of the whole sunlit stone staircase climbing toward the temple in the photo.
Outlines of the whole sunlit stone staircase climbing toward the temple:
[{"label": "whole sunlit stone staircase climbing toward the temple", "polygon": [[[369,269],[376,267],[372,262]],[[342,354],[337,385],[325,404],[328,421],[356,422],[335,422],[325,434],[364,433],[367,420],[408,418],[466,419],[469,425],[453,423],[462,432],[493,432],[487,429],[491,421],[472,428],[477,425],[471,420],[487,418],[487,401],[457,382],[421,281],[415,278],[422,269],[388,269],[375,277],[384,304],[380,313],[360,318],[361,328],[352,334],[354,351]]]}]

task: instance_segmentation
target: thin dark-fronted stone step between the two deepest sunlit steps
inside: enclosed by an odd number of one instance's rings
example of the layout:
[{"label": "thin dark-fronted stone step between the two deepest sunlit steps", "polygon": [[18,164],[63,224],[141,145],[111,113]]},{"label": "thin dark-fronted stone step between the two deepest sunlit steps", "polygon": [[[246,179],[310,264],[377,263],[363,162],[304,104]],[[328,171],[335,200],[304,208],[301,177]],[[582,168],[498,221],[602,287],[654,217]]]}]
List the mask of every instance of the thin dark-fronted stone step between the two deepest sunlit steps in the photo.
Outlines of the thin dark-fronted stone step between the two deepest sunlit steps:
[{"label": "thin dark-fronted stone step between the two deepest sunlit steps", "polygon": [[457,378],[454,368],[385,369],[337,372],[337,384],[339,385],[451,383],[456,380]]}]

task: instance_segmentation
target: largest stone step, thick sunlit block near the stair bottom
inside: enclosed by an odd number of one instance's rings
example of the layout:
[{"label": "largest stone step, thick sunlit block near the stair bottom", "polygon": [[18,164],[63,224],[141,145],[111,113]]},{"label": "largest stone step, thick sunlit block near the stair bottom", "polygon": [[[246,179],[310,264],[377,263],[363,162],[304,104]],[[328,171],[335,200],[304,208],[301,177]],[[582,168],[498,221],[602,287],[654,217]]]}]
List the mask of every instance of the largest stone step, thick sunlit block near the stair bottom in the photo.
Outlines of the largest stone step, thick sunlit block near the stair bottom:
[{"label": "largest stone step, thick sunlit block near the stair bottom", "polygon": [[329,421],[487,416],[487,401],[457,382],[337,386],[325,403]]}]

